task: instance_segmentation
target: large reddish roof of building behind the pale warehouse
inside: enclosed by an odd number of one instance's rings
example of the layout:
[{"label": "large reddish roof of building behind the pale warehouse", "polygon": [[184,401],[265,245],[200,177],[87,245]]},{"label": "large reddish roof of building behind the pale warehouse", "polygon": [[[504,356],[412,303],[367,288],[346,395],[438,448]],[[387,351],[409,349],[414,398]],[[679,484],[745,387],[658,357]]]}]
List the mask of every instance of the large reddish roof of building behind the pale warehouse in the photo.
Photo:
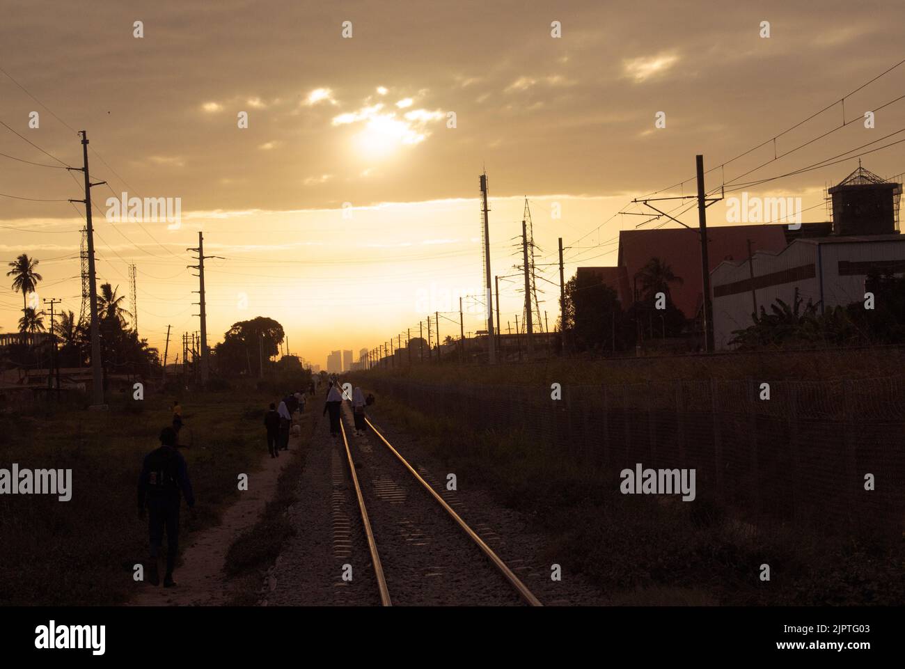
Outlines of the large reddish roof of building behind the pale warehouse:
[{"label": "large reddish roof of building behind the pale warehouse", "polygon": [[[752,251],[782,251],[786,248],[785,225],[719,225],[707,229],[709,271],[725,260],[736,263],[748,258],[748,240]],[[618,265],[624,268],[624,286],[619,293],[627,308],[632,304],[633,276],[651,258],[660,258],[681,277],[671,286],[672,301],[693,318],[700,309],[703,278],[700,271],[700,237],[696,229],[660,228],[623,230],[619,233]],[[615,268],[610,268],[615,269]],[[622,283],[622,282],[620,282]]]}]

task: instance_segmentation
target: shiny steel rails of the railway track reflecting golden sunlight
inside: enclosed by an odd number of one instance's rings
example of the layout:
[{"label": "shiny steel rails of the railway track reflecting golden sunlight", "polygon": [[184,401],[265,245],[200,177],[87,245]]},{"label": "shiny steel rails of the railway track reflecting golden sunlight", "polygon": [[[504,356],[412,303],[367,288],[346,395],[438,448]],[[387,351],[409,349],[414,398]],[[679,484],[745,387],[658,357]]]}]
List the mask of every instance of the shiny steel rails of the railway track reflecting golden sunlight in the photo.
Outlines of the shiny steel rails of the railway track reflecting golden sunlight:
[{"label": "shiny steel rails of the railway track reflecting golden sunlight", "polygon": [[[375,427],[373,423],[369,419],[366,418],[367,425],[371,428],[374,435],[376,435],[377,440],[383,445],[386,449],[386,452],[392,454],[393,459],[396,462],[402,465],[406,472],[411,475],[411,479],[407,479],[411,481],[414,479],[414,482],[417,483],[416,488],[421,488],[425,492],[428,493],[430,499],[432,499],[436,504],[439,505],[446,516],[454,523],[454,525],[458,526],[460,530],[462,530],[465,537],[467,537],[468,541],[472,546],[477,547],[481,553],[487,558],[487,560],[491,563],[495,572],[501,577],[506,583],[509,584],[510,588],[518,595],[520,600],[531,607],[540,607],[543,606],[538,597],[535,597],[534,594],[529,590],[529,588],[519,579],[519,577],[510,569],[505,562],[491,549],[488,544],[481,539],[478,533],[472,530],[469,527],[468,523],[462,520],[462,517],[456,513],[452,509],[452,507],[443,500],[443,497],[433,489],[433,486],[430,483],[427,483],[424,480],[424,477],[420,473],[418,473],[415,468],[405,460],[405,457],[400,454],[394,447],[393,444],[390,444],[384,435],[380,433],[379,430]],[[346,458],[348,461],[348,470],[349,476],[352,480],[352,484],[355,488],[355,494],[358,501],[358,508],[361,513],[362,525],[365,531],[367,546],[370,552],[371,564],[374,569],[374,574],[376,577],[377,587],[380,591],[380,601],[381,604],[385,607],[392,606],[392,599],[389,592],[389,587],[386,581],[386,574],[384,573],[384,565],[380,559],[380,554],[377,550],[377,542],[375,537],[374,529],[371,525],[371,517],[368,514],[367,506],[365,502],[366,495],[362,492],[361,485],[358,481],[358,475],[356,473],[355,459],[352,456],[352,450],[348,443],[348,438],[346,436],[346,427],[345,427],[345,419],[340,419],[340,427],[341,427],[341,435],[343,444],[346,449]],[[374,481],[375,488],[378,491],[377,495],[380,496],[380,490],[382,488],[386,489],[387,483],[385,481]],[[390,483],[390,485],[394,487],[399,487],[396,483]],[[394,502],[397,504],[414,504],[415,502],[407,500],[407,496],[405,494],[397,494],[395,495]],[[406,521],[407,522],[407,521]],[[381,531],[385,530],[381,528]],[[452,530],[452,526],[450,526],[450,530]],[[389,536],[390,532],[386,531],[385,536]],[[416,544],[419,548],[423,548],[424,545],[422,542],[418,542]],[[479,556],[475,556],[478,558]],[[391,563],[387,563],[390,565]],[[427,576],[434,576],[434,574],[427,574]],[[498,578],[499,578],[498,577]]]}]

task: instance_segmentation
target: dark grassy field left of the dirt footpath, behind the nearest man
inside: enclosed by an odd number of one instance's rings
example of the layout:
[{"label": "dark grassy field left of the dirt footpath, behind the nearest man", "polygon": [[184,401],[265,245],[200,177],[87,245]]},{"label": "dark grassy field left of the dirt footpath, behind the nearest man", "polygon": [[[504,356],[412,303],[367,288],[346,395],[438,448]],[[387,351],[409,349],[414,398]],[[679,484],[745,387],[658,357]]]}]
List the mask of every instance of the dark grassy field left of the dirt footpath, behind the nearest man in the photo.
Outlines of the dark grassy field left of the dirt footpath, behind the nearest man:
[{"label": "dark grassy field left of the dirt footpath, behind the nearest man", "polygon": [[[181,397],[180,441],[195,492],[183,505],[180,545],[217,522],[239,494],[236,477],[257,469],[266,448],[269,395],[242,392]],[[147,521],[137,516],[142,458],[170,425],[171,397],[110,399],[106,412],[35,407],[0,415],[0,466],[72,469],[72,498],[0,496],[0,604],[110,605],[136,588],[132,568],[148,555]]]}]

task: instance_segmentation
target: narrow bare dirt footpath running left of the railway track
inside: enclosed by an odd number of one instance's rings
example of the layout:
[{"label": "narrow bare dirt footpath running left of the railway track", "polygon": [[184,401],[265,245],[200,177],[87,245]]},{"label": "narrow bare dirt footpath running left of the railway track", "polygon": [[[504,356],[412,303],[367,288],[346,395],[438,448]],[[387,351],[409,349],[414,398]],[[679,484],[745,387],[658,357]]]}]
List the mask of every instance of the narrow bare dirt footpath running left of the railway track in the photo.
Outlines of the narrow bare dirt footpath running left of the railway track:
[{"label": "narrow bare dirt footpath running left of the railway track", "polygon": [[[215,527],[191,535],[191,543],[182,553],[182,566],[177,567],[174,574],[178,584],[176,588],[155,588],[148,583],[136,583],[139,591],[129,602],[129,606],[223,606],[232,595],[231,584],[224,574],[226,551],[243,532],[252,529],[261,517],[264,506],[276,494],[282,469],[298,457],[299,442],[299,437],[291,436],[289,451],[281,451],[279,458],[262,454],[262,469],[248,473],[248,490],[241,492],[239,500],[224,511],[223,521]],[[236,475],[239,473],[241,472],[236,472]],[[183,504],[183,524],[187,513],[186,505]],[[165,540],[161,551],[163,555],[166,555],[166,550]],[[160,578],[163,578],[163,571]]]}]

